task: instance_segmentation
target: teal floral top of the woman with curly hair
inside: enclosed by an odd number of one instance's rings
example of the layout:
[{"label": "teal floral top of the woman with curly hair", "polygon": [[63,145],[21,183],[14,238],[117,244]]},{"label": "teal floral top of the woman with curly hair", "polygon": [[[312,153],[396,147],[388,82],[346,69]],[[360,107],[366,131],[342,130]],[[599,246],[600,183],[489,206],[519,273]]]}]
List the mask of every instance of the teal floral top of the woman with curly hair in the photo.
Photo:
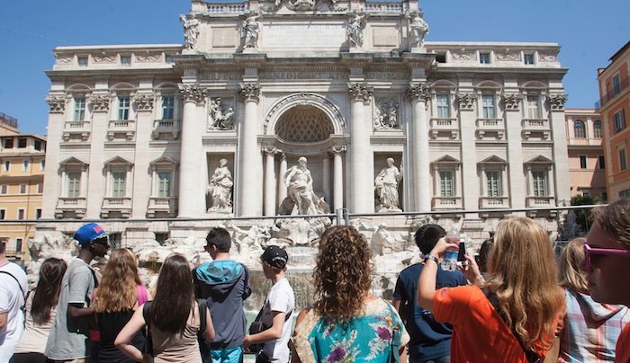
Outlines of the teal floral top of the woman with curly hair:
[{"label": "teal floral top of the woman with curly hair", "polygon": [[392,351],[409,341],[401,317],[380,298],[365,302],[347,324],[329,325],[311,309],[293,335],[293,345],[304,363],[387,362]]}]

